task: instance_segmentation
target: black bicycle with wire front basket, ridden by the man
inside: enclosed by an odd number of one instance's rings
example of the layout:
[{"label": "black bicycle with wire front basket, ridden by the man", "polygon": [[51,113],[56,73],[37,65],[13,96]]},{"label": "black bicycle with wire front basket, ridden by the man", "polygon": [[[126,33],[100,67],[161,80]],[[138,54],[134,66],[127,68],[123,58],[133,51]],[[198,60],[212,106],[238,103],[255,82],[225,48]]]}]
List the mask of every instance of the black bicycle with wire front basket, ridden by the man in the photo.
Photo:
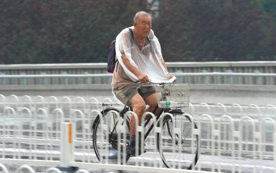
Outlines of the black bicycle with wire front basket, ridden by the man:
[{"label": "black bicycle with wire front basket, ridden by the man", "polygon": [[[161,159],[168,168],[192,169],[199,157],[200,137],[197,134],[194,135],[194,137],[192,136],[192,128],[197,129],[197,125],[181,110],[181,108],[189,106],[189,85],[154,83],[154,86],[156,88],[156,92],[160,93],[160,97],[158,98],[158,107],[162,108],[161,113],[156,117],[158,126],[162,128],[161,133],[157,133],[156,143]],[[102,104],[102,118],[98,115],[94,120],[92,127],[93,148],[100,162],[106,163],[105,159],[108,157],[108,163],[116,164],[119,162],[120,164],[123,164],[126,163],[130,157],[128,153],[122,152],[121,156],[112,155],[110,154],[112,152],[106,153],[106,150],[102,148],[109,148],[109,151],[113,152],[116,152],[118,148],[120,148],[121,151],[126,151],[125,148],[127,148],[129,143],[129,117],[126,116],[125,113],[127,111],[132,111],[132,108],[124,106],[122,110],[119,110],[113,107],[113,105],[114,104]],[[105,106],[107,106],[107,108],[104,109]],[[160,121],[160,117],[163,112],[173,115],[173,118],[175,118],[174,127],[173,119],[169,114],[163,116],[163,121]],[[146,120],[144,127],[149,125],[150,121],[151,119]],[[105,128],[108,128],[108,135],[101,130],[101,127],[103,127],[103,123],[101,124],[101,122],[108,123],[108,125],[105,126]],[[106,123],[104,125],[106,125]],[[160,123],[163,124],[160,125]],[[125,136],[123,136],[122,128],[120,128],[120,126],[125,127]],[[145,133],[145,142],[152,134],[153,128],[154,123],[151,124],[148,131]],[[180,128],[181,133],[173,133],[173,130],[177,128]],[[181,136],[179,134],[181,134]],[[122,136],[119,141],[118,135]],[[108,142],[103,142],[103,137],[108,139]],[[178,152],[178,154],[180,153],[178,155],[178,159],[170,152],[172,150],[172,146],[177,146],[178,149],[182,149],[181,152]],[[183,157],[180,158],[180,155]],[[123,156],[124,158],[122,158]]]}]

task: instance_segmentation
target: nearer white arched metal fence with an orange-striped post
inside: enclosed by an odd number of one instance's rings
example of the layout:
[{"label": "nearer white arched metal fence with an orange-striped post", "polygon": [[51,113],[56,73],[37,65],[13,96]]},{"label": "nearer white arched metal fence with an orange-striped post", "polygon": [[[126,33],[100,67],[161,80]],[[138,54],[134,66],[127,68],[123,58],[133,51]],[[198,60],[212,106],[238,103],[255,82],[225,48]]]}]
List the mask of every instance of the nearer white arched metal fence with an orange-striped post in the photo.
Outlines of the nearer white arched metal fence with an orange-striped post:
[{"label": "nearer white arched metal fence with an orange-striped post", "polygon": [[[72,109],[70,123],[63,122],[66,117],[58,108],[50,114],[43,108],[34,110],[35,114],[24,107],[18,110],[5,107],[4,110],[5,115],[9,117],[0,117],[0,161],[2,163],[132,171],[139,169],[151,172],[205,172],[203,170],[275,172],[276,124],[274,120],[267,117],[258,120],[248,116],[239,118],[228,115],[213,118],[209,114],[198,116],[192,121],[196,122],[200,129],[194,134],[201,136],[201,155],[194,167],[196,170],[186,171],[164,168],[158,151],[152,150],[156,140],[149,140],[146,144],[146,149],[151,154],[133,157],[132,165],[98,163],[93,151],[91,135],[93,122],[91,117],[101,116],[97,110],[91,110],[85,114],[81,110]],[[92,115],[92,113],[96,114]],[[133,112],[131,114],[135,115]],[[192,115],[185,115],[192,118]],[[107,124],[103,124],[103,127],[104,125]],[[136,129],[144,129],[143,123]],[[154,128],[153,139],[156,139],[155,135],[159,131],[159,128]],[[108,148],[103,149],[108,151]],[[172,150],[178,153],[177,148]],[[108,162],[108,158],[105,159]]]}]

